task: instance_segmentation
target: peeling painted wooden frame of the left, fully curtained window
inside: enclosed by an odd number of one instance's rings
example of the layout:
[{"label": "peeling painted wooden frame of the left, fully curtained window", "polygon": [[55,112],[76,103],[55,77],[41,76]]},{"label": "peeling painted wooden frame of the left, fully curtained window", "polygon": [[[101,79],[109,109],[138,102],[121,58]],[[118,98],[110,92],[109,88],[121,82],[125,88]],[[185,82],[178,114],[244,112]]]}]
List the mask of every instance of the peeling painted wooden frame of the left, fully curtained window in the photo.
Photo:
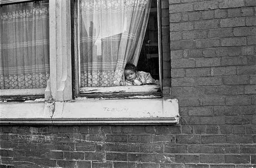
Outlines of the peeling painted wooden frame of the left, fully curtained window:
[{"label": "peeling painted wooden frame of the left, fully curtained window", "polygon": [[[0,6],[7,4],[19,4],[42,0],[0,0]],[[32,89],[0,89],[0,101],[24,101],[35,100],[45,97],[46,88]]]}]

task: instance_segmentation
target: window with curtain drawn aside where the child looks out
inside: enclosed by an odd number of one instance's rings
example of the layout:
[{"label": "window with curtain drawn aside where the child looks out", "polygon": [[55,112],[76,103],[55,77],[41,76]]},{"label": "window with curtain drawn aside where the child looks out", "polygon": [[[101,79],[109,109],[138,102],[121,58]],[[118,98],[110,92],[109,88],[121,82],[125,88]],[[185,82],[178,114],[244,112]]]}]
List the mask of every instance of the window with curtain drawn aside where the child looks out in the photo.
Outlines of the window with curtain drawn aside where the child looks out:
[{"label": "window with curtain drawn aside where the child looks out", "polygon": [[[162,96],[160,9],[157,0],[74,3],[75,96]],[[140,85],[128,85],[126,63],[145,72],[136,73]],[[158,82],[146,82],[148,76]]]}]

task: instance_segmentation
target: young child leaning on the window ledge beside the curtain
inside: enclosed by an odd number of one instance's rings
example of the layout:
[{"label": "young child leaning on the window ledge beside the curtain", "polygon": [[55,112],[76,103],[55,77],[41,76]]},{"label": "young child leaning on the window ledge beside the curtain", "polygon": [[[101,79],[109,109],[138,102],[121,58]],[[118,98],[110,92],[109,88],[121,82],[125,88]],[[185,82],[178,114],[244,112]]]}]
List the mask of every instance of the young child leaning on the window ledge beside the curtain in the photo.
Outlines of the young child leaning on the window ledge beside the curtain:
[{"label": "young child leaning on the window ledge beside the curtain", "polygon": [[152,78],[150,73],[137,71],[137,67],[127,63],[124,68],[125,85],[145,85],[147,83],[155,83],[159,85],[159,80]]}]

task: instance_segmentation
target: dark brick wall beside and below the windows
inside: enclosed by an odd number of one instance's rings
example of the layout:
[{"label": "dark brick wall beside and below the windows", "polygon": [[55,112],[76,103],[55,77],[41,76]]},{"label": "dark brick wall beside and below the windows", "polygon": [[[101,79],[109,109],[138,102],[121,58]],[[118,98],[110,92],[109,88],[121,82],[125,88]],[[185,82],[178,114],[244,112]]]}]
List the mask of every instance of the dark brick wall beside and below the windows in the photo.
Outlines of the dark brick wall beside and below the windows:
[{"label": "dark brick wall beside and below the windows", "polygon": [[180,124],[0,126],[1,167],[256,166],[256,1],[161,4],[163,95]]}]

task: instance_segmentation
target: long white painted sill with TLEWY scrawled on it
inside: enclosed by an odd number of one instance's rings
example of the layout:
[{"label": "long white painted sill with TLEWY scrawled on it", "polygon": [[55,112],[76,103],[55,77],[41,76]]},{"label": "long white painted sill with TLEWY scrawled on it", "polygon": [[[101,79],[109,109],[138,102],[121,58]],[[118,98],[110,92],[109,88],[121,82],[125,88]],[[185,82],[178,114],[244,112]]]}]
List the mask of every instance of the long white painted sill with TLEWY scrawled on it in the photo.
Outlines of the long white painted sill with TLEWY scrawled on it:
[{"label": "long white painted sill with TLEWY scrawled on it", "polygon": [[177,124],[176,99],[1,102],[0,124]]}]

